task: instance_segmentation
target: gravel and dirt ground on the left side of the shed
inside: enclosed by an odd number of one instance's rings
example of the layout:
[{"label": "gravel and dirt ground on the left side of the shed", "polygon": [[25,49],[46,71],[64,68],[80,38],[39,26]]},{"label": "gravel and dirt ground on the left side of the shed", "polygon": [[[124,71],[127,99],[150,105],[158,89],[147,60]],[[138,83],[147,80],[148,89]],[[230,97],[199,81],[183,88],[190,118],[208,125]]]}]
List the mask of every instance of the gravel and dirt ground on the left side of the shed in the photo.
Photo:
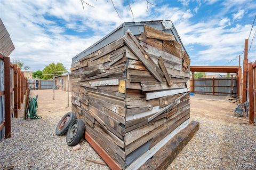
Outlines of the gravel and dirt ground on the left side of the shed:
[{"label": "gravel and dirt ground on the left side of the shed", "polygon": [[0,142],[0,169],[10,166],[14,169],[109,169],[85,160],[103,161],[86,141],[79,143],[80,150],[73,151],[66,143],[66,136],[55,135],[59,120],[71,109],[66,107],[67,92],[55,91],[54,101],[52,90],[32,93],[39,95],[38,115],[43,118],[12,120],[12,137]]}]

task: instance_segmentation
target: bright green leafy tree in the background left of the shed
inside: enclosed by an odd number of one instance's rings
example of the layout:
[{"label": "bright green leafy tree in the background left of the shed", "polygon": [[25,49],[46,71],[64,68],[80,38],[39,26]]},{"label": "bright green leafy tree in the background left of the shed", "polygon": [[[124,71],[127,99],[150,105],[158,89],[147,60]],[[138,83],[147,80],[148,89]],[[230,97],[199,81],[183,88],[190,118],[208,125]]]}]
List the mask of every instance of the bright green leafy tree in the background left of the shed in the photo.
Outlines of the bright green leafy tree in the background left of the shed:
[{"label": "bright green leafy tree in the background left of the shed", "polygon": [[63,72],[55,72],[55,71],[68,71],[62,63],[57,62],[55,64],[54,62],[49,64],[48,66],[45,66],[43,69],[43,79],[53,79],[52,75],[44,75],[44,74],[54,74],[54,75],[61,75]]}]

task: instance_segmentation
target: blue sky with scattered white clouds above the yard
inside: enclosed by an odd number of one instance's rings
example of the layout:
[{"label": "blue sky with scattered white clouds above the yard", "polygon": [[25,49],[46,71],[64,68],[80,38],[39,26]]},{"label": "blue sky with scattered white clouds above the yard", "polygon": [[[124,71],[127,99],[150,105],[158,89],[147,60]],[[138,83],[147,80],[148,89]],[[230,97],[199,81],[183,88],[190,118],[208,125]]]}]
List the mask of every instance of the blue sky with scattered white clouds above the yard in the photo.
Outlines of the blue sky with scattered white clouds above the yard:
[{"label": "blue sky with scattered white clouds above the yard", "polygon": [[[244,49],[256,1],[3,1],[0,16],[9,31],[19,59],[30,70],[51,62],[70,69],[71,58],[125,21],[172,20],[191,59],[191,65],[223,66]],[[131,6],[134,19],[131,11]],[[256,23],[254,23],[256,25]],[[252,30],[249,46],[256,26]],[[256,40],[249,60],[256,60]],[[242,55],[243,56],[243,55]],[[238,58],[228,64],[238,65]]]}]

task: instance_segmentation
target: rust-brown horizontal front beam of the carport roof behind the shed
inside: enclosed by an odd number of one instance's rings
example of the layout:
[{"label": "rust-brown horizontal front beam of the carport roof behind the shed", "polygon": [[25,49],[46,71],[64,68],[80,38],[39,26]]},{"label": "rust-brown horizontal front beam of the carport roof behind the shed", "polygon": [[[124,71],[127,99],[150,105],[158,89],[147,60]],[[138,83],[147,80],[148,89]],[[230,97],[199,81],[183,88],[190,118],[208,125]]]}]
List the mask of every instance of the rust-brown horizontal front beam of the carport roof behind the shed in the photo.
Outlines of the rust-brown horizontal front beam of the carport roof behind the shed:
[{"label": "rust-brown horizontal front beam of the carport roof behind the shed", "polygon": [[239,66],[190,66],[191,72],[229,72],[238,74]]}]

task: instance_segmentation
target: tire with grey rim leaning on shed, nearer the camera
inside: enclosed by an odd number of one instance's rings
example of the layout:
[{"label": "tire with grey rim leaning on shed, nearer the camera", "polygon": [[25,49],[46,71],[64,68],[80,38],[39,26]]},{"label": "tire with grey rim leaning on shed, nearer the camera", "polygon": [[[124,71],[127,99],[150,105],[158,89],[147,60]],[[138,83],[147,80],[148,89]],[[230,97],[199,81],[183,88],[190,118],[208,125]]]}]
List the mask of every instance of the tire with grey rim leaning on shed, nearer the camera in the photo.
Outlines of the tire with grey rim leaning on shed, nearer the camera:
[{"label": "tire with grey rim leaning on shed, nearer the camera", "polygon": [[83,120],[75,119],[68,128],[67,144],[69,146],[77,145],[84,135],[85,125]]}]

